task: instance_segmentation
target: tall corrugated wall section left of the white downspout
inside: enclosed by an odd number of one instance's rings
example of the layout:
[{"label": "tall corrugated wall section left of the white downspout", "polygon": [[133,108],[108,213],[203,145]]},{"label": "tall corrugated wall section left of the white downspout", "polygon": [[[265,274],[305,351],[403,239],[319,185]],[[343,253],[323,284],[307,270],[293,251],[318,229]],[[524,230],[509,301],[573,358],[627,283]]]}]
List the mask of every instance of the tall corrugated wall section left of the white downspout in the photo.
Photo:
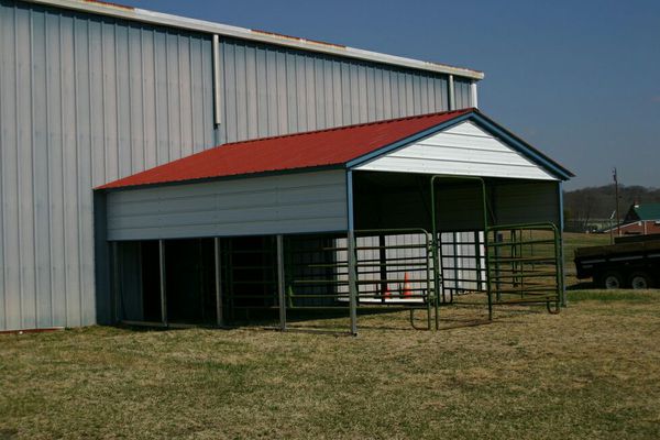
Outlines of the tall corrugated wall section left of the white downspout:
[{"label": "tall corrugated wall section left of the white downspout", "polygon": [[209,35],[0,0],[0,330],[96,321],[92,187],[213,145]]}]

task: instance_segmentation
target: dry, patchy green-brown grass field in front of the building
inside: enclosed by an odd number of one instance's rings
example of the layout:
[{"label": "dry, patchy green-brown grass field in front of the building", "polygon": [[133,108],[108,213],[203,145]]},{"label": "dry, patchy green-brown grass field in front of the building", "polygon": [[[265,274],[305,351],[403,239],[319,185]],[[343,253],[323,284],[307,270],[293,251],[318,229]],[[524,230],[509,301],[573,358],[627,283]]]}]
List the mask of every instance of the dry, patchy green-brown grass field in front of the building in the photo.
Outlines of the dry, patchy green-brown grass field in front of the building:
[{"label": "dry, patchy green-brown grass field in front of the building", "polygon": [[0,439],[660,438],[660,293],[569,295],[560,315],[498,308],[491,324],[443,309],[457,326],[437,332],[387,314],[358,338],[3,334]]}]

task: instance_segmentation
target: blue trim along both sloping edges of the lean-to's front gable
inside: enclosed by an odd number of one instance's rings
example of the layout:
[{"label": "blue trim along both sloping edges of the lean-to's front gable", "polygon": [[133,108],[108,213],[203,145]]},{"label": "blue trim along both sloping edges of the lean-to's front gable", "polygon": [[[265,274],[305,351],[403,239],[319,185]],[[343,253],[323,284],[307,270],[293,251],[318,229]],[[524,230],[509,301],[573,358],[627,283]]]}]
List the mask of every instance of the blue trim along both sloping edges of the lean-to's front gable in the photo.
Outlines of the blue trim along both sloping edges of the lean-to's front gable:
[{"label": "blue trim along both sloping edges of the lean-to's front gable", "polygon": [[354,167],[360,166],[360,165],[362,165],[369,161],[372,161],[376,157],[380,157],[387,153],[391,153],[392,151],[395,151],[397,148],[409,145],[414,142],[417,142],[421,139],[433,135],[438,132],[447,130],[448,128],[450,128],[452,125],[459,124],[459,123],[468,121],[468,120],[476,122],[476,124],[480,125],[482,129],[486,130],[488,133],[493,134],[494,136],[496,136],[497,139],[503,141],[504,143],[506,143],[507,145],[509,145],[510,147],[516,150],[518,153],[520,153],[525,157],[529,158],[535,164],[541,166],[544,170],[547,170],[554,177],[559,178],[560,180],[565,182],[565,180],[569,180],[571,177],[575,176],[569,169],[564,168],[557,162],[552,161],[550,157],[546,156],[543,153],[541,153],[540,151],[538,151],[537,148],[531,146],[529,143],[525,142],[524,140],[518,138],[516,134],[512,133],[504,127],[499,125],[497,122],[487,118],[486,116],[484,116],[482,112],[480,112],[476,109],[472,110],[469,113],[461,114],[454,119],[446,121],[441,124],[435,125],[430,129],[424,130],[411,136],[405,138],[398,142],[395,142],[393,144],[389,144],[387,146],[378,148],[374,152],[371,152],[369,154],[365,154],[363,156],[354,158],[346,163],[346,167],[354,168]]}]

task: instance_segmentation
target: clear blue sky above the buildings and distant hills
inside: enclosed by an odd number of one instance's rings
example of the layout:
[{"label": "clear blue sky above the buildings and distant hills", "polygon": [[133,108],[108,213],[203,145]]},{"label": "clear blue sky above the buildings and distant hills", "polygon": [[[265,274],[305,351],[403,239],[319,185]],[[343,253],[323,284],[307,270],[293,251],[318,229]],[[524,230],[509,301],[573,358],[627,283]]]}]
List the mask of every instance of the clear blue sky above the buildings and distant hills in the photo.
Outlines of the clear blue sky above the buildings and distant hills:
[{"label": "clear blue sky above the buildings and distant hills", "polygon": [[660,1],[124,0],[486,74],[480,108],[572,169],[660,187]]}]

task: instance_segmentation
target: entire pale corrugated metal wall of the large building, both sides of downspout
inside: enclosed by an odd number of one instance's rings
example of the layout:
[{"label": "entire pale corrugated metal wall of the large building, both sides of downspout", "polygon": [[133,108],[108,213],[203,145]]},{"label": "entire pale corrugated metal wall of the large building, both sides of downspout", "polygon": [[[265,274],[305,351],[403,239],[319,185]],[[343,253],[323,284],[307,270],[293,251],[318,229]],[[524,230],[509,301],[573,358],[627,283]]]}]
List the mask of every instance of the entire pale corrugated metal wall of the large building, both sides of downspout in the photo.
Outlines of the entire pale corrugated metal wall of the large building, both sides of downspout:
[{"label": "entire pale corrugated metal wall of the large building, both sides of downspout", "polygon": [[446,75],[220,52],[213,130],[211,35],[0,0],[0,329],[95,322],[95,186],[217,143],[448,109]]}]

